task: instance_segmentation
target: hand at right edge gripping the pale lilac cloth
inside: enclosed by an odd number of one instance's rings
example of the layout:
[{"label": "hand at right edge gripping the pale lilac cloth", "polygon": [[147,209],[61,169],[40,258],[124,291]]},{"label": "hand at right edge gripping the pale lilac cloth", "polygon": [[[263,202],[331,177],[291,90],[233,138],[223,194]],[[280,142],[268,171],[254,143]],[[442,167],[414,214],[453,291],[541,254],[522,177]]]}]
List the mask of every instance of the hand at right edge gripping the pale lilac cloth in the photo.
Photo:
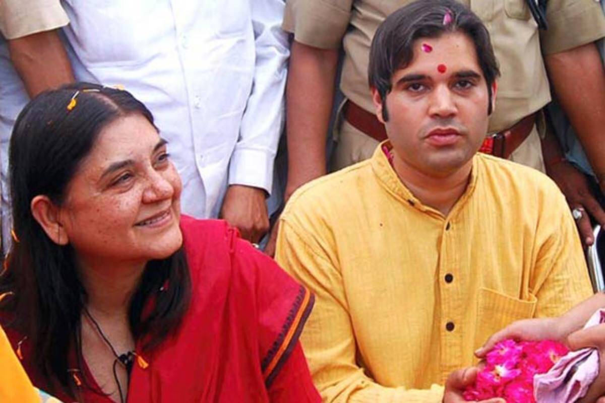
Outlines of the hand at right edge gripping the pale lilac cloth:
[{"label": "hand at right edge gripping the pale lilac cloth", "polygon": [[572,350],[594,347],[599,350],[599,375],[578,403],[605,403],[605,324],[581,329],[567,338],[567,344]]}]

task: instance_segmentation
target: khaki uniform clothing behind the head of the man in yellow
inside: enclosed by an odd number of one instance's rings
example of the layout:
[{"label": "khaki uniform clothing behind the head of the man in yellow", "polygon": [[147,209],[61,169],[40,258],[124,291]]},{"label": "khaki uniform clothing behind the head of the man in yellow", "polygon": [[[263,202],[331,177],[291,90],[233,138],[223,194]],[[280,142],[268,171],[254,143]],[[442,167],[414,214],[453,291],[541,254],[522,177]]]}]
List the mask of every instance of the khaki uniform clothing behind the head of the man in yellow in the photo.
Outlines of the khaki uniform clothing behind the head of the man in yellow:
[{"label": "khaki uniform clothing behind the head of the man in yellow", "polygon": [[[368,112],[374,106],[367,69],[371,39],[384,19],[411,0],[288,0],[283,28],[301,44],[317,48],[344,47],[341,90]],[[549,0],[549,28],[538,31],[525,0],[461,0],[485,23],[491,34],[502,77],[489,132],[508,129],[551,100],[540,45],[546,54],[569,50],[605,36],[605,18],[593,0]],[[345,154],[370,156],[378,144],[347,122],[341,126],[336,167]],[[358,146],[357,139],[363,146]],[[371,147],[368,145],[371,144]],[[347,150],[343,152],[341,146]],[[365,150],[370,148],[370,150]],[[339,161],[342,160],[342,161]],[[543,170],[540,139],[534,128],[511,160]],[[348,164],[356,160],[348,161]]]}]

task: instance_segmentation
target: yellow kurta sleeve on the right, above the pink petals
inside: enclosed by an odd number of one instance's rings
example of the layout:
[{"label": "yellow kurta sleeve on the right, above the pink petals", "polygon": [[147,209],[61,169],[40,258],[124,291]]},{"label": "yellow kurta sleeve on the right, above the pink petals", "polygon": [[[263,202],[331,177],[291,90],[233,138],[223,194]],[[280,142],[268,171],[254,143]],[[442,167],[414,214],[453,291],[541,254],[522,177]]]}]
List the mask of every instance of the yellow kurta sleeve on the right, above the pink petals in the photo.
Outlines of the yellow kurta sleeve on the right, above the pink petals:
[{"label": "yellow kurta sleeve on the right, above the pink petals", "polygon": [[530,285],[538,299],[535,317],[561,315],[593,294],[574,219],[557,193],[549,198],[537,228],[541,241]]}]

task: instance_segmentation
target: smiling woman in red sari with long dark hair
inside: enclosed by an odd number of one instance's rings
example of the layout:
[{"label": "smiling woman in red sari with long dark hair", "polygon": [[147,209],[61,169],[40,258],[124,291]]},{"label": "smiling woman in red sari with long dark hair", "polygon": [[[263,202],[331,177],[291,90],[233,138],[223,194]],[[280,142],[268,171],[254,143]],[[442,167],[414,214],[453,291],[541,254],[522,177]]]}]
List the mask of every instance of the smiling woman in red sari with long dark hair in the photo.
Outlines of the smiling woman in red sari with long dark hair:
[{"label": "smiling woman in red sari with long dark hair", "polygon": [[80,83],[19,115],[2,326],[62,401],[319,401],[298,335],[313,298],[222,221],[180,215],[148,109]]}]

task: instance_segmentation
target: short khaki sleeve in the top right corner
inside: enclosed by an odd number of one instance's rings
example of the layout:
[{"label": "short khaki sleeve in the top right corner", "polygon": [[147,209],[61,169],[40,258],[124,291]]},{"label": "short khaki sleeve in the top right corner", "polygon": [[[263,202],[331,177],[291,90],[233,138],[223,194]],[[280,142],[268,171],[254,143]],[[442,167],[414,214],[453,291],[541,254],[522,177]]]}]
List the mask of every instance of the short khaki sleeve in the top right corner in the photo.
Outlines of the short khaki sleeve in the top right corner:
[{"label": "short khaki sleeve in the top right corner", "polygon": [[571,50],[605,36],[605,16],[599,2],[549,0],[548,30],[540,31],[545,54]]}]

